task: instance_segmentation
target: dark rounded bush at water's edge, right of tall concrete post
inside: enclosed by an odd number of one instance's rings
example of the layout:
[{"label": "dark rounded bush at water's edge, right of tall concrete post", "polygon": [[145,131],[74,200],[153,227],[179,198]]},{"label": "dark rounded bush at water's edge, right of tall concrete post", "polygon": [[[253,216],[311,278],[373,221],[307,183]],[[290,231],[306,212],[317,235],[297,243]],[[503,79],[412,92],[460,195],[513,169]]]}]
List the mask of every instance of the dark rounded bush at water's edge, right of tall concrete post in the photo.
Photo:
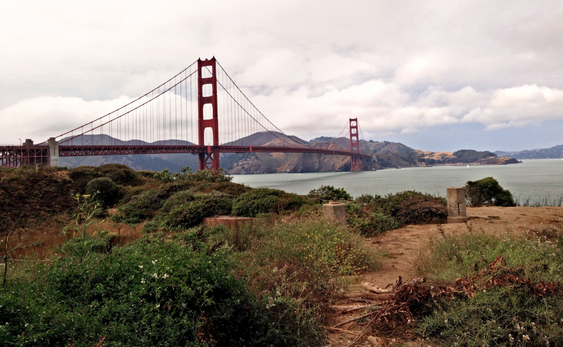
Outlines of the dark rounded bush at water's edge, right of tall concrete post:
[{"label": "dark rounded bush at water's edge, right of tall concrete post", "polygon": [[468,181],[466,184],[466,203],[469,206],[515,206],[514,197],[508,190],[503,189],[498,181],[492,177]]}]

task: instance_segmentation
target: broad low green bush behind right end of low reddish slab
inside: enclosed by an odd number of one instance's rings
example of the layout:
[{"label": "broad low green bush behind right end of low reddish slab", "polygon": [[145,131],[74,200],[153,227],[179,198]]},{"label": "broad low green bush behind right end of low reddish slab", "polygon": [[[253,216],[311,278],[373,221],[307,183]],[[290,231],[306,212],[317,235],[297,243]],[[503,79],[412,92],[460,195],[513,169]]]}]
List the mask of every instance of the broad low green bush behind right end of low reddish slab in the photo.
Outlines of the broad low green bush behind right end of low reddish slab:
[{"label": "broad low green bush behind right end of low reddish slab", "polygon": [[245,192],[235,199],[233,214],[254,217],[262,213],[281,213],[300,208],[304,203],[306,203],[305,198],[297,194],[277,189],[257,188]]}]

